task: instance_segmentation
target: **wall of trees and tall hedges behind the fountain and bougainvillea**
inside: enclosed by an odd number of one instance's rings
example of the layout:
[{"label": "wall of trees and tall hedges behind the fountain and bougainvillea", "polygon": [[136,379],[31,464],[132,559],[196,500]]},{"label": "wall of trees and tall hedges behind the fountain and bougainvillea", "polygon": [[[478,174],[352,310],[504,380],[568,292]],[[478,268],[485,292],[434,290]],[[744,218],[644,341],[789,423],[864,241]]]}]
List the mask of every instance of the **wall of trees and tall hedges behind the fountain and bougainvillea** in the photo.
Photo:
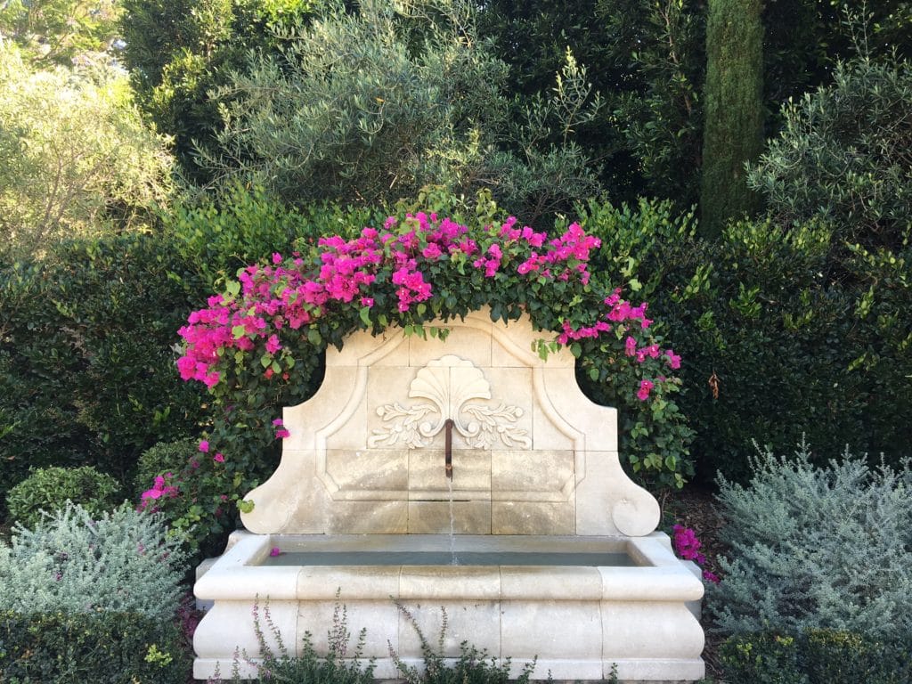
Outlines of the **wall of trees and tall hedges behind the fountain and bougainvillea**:
[{"label": "wall of trees and tall hedges behind the fountain and bougainvillea", "polygon": [[[186,314],[239,267],[417,206],[428,183],[454,211],[485,190],[538,229],[578,217],[602,240],[596,277],[652,302],[685,353],[701,481],[746,477],[751,439],[805,432],[896,462],[908,3],[739,7],[4,5],[3,486],[57,464],[126,484],[142,451],[205,430],[205,396],[172,367]],[[746,35],[762,64],[737,67]],[[749,70],[748,128],[704,124]],[[751,127],[759,156],[733,147]],[[734,171],[707,182],[707,154]]]}]

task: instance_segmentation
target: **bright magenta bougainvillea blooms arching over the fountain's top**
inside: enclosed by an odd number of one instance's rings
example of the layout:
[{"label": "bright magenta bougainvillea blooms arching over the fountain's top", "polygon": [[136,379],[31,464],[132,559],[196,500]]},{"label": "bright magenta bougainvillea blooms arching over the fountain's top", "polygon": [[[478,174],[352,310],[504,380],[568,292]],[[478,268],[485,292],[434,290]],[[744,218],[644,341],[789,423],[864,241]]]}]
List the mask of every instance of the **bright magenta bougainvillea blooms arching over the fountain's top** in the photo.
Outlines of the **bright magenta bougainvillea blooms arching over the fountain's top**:
[{"label": "bright magenta bougainvillea blooms arching over the fountain's top", "polygon": [[[521,275],[534,273],[568,280],[577,274],[585,285],[589,280],[589,254],[600,245],[578,223],[547,241],[546,233],[535,233],[528,226],[517,228],[516,219],[511,217],[503,225],[489,228],[488,234],[501,244],[490,244],[482,253],[478,244],[467,237],[469,229],[450,218],[439,220],[434,213],[417,212],[409,214],[403,225],[397,223],[396,218],[390,217],[383,231],[364,228],[352,240],[338,235],[321,238],[316,264],[306,264],[298,253],[292,255],[290,264],[281,254],[273,254],[271,264],[245,268],[238,276],[239,283],[233,284],[233,291],[230,288],[225,295],[210,297],[208,306],[192,312],[188,325],[178,331],[185,347],[177,362],[181,378],[199,380],[212,388],[222,378],[219,365],[228,350],[246,353],[259,347],[265,354],[275,356],[284,348],[281,335],[285,329],[306,326],[316,317],[325,316],[334,304],[357,301],[362,307],[374,306],[369,289],[379,284],[378,278],[389,277],[395,286],[399,312],[409,311],[413,304],[432,295],[431,284],[420,271],[419,257],[430,263],[474,257],[472,264],[483,269],[486,277],[493,277],[516,254],[517,260],[524,259],[516,269]],[[398,232],[389,232],[394,227]],[[637,318],[644,328],[648,326],[646,305],[631,307],[619,300],[619,295],[615,295],[608,320]],[[565,328],[562,337],[566,341],[597,336],[607,329],[606,321],[599,321],[591,329]],[[264,366],[266,379],[278,372],[274,365]],[[281,375],[288,379],[287,373]]]}]

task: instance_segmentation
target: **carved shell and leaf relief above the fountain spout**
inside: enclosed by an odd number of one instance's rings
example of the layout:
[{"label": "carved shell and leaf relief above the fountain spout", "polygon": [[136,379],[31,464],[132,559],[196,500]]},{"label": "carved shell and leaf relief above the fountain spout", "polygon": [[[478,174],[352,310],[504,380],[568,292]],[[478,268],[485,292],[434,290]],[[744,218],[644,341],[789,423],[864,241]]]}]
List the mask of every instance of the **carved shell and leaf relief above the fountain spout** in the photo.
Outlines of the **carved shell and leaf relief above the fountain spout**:
[{"label": "carved shell and leaf relief above the fountain spout", "polygon": [[421,368],[409,385],[409,397],[427,399],[410,406],[398,401],[378,406],[384,426],[373,430],[368,446],[403,444],[409,449],[430,446],[448,419],[472,449],[491,449],[497,440],[512,448],[529,449],[532,440],[516,420],[523,409],[501,401],[496,407],[478,403],[491,399],[491,384],[472,361],[452,354]]}]

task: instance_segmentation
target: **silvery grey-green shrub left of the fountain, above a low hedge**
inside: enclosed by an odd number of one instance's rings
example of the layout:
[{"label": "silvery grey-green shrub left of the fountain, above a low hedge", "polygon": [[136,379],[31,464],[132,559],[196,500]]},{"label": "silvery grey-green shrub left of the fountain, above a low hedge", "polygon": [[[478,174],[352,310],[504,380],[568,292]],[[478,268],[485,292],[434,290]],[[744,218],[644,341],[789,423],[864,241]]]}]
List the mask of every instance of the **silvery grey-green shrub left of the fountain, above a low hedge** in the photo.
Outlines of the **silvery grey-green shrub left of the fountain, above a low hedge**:
[{"label": "silvery grey-green shrub left of the fountain, above a low hedge", "polygon": [[69,503],[0,542],[0,609],[138,612],[171,617],[185,556],[160,516],[123,505],[89,513]]}]

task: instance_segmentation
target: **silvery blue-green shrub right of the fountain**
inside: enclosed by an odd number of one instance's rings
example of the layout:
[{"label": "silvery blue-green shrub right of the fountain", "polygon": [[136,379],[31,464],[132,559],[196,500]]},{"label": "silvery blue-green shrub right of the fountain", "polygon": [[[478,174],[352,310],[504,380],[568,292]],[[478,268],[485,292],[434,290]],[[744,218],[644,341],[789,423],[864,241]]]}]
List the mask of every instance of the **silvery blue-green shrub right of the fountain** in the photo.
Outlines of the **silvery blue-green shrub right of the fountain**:
[{"label": "silvery blue-green shrub right of the fountain", "polygon": [[912,469],[869,467],[846,449],[826,468],[759,451],[747,487],[720,480],[731,547],[709,610],[726,634],[833,628],[912,633]]}]

